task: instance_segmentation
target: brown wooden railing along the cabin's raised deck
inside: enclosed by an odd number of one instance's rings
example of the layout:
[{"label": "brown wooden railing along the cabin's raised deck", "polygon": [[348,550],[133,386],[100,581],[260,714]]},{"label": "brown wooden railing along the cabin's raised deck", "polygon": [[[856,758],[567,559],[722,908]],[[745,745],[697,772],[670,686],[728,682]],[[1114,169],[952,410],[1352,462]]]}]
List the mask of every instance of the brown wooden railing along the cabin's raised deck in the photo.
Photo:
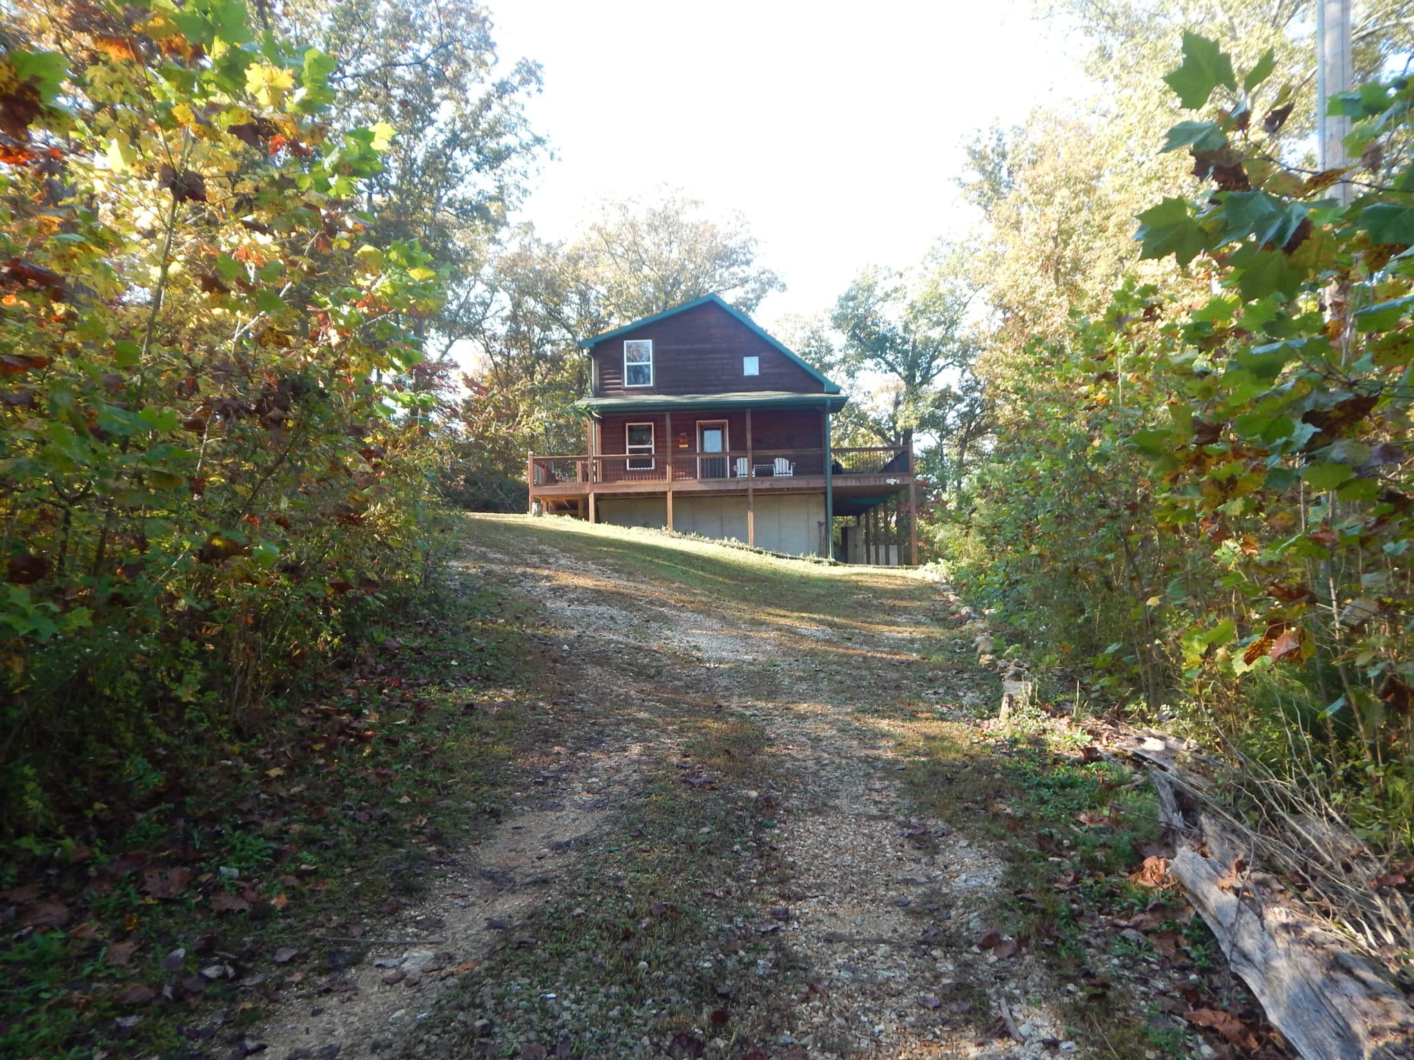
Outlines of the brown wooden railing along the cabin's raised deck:
[{"label": "brown wooden railing along the cabin's raised deck", "polygon": [[[836,476],[909,473],[904,445],[839,448],[830,454]],[[782,479],[824,475],[824,449],[737,449],[730,452],[631,452],[601,457],[530,457],[532,488],[557,483],[614,485],[622,482],[707,482]],[[744,483],[745,485],[745,483]]]}]

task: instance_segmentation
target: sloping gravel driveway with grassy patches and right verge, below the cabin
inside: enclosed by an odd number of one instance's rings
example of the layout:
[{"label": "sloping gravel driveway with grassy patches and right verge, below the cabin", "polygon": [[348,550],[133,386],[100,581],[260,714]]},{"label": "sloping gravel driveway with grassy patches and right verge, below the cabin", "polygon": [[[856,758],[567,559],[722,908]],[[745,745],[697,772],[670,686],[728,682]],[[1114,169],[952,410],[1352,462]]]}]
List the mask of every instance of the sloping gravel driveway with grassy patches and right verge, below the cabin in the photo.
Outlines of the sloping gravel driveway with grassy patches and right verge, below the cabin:
[{"label": "sloping gravel driveway with grassy patches and right verge, below the cabin", "polygon": [[1000,690],[923,575],[509,517],[461,563],[547,623],[549,745],[266,1056],[1267,1047],[1191,912],[1126,879],[1157,852],[1134,779],[1070,722],[981,724]]}]

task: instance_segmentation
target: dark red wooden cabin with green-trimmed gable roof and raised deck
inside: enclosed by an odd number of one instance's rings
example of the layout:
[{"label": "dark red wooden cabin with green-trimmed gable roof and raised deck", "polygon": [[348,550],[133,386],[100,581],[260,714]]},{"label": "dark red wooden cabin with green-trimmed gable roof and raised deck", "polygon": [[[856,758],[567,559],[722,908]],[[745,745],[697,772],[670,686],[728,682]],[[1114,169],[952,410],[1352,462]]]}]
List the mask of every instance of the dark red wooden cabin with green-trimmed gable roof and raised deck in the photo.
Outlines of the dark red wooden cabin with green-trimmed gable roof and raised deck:
[{"label": "dark red wooden cabin with green-trimmed gable roof and raised deck", "polygon": [[[918,563],[912,449],[831,445],[830,417],[847,401],[840,387],[715,294],[580,346],[590,358],[591,391],[577,403],[587,451],[530,454],[533,513],[854,563],[898,563],[906,548]],[[906,544],[884,540],[885,505],[908,514]],[[854,516],[844,548],[839,516]]]}]

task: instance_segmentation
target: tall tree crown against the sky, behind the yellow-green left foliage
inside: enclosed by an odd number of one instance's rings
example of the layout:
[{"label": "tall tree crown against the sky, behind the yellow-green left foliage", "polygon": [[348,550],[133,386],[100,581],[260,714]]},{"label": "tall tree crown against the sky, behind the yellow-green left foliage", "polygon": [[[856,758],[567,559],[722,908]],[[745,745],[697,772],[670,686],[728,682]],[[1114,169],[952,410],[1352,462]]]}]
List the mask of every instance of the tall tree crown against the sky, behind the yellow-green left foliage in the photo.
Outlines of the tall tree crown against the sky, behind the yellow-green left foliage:
[{"label": "tall tree crown against the sky, behind the yellow-green left foliage", "polygon": [[525,116],[540,66],[505,66],[491,14],[472,0],[291,0],[281,21],[337,58],[328,82],[341,126],[399,130],[361,194],[376,240],[416,239],[448,270],[451,297],[421,322],[444,352],[475,332],[478,280],[542,157]]}]

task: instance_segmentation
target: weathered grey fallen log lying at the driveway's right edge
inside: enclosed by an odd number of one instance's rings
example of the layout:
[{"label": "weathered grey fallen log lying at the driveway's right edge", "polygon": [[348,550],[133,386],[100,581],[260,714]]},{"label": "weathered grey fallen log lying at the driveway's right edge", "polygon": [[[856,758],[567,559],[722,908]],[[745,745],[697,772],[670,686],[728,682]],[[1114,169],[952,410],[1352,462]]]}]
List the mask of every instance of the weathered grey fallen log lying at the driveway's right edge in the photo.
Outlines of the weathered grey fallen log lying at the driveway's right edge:
[{"label": "weathered grey fallen log lying at the driveway's right edge", "polygon": [[1251,844],[1209,804],[1215,783],[1164,736],[1126,742],[1158,793],[1169,873],[1271,1025],[1304,1060],[1414,1060],[1414,1008],[1349,941],[1257,871]]}]

